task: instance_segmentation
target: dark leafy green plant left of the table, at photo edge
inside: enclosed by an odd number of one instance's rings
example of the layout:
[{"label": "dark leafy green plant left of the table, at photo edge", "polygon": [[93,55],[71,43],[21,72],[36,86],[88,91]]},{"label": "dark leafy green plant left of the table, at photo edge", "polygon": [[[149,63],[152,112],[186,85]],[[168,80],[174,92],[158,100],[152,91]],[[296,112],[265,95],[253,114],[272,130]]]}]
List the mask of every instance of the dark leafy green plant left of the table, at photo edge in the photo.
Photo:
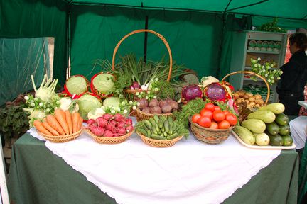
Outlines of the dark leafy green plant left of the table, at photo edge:
[{"label": "dark leafy green plant left of the table, at photo edge", "polygon": [[28,115],[23,111],[23,104],[0,108],[0,133],[4,139],[18,138],[28,128]]}]

